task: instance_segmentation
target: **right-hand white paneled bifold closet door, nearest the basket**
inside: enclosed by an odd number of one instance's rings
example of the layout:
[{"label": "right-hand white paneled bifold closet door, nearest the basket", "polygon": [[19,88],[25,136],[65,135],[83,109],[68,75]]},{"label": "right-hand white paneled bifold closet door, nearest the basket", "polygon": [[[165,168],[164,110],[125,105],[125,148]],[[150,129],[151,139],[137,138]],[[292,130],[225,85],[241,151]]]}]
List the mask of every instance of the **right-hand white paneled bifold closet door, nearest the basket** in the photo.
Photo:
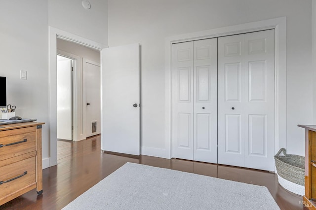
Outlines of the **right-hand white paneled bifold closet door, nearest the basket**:
[{"label": "right-hand white paneled bifold closet door, nearest the basket", "polygon": [[218,163],[274,171],[274,30],[218,38]]}]

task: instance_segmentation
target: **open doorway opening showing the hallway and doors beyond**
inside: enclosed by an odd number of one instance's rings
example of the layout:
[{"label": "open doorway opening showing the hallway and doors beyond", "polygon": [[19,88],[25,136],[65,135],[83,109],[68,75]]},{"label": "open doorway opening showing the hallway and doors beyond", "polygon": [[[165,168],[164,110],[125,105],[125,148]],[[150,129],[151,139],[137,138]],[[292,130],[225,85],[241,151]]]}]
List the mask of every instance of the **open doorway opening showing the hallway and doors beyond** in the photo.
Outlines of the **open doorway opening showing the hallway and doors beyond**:
[{"label": "open doorway opening showing the hallway and doors beyond", "polygon": [[[71,69],[71,80],[69,75],[59,75],[60,66]],[[57,38],[57,161],[72,154],[76,145],[73,141],[101,133],[100,92],[100,51]],[[60,131],[67,136],[62,137]]]}]

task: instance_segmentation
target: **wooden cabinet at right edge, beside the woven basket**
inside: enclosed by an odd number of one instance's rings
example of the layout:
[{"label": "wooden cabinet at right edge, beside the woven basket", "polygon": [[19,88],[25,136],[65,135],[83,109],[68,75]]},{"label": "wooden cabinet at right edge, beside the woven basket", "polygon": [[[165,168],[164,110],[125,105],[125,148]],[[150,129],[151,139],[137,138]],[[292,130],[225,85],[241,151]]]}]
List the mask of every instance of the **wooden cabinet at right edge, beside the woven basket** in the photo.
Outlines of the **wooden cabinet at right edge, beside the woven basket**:
[{"label": "wooden cabinet at right edge, beside the woven basket", "polygon": [[305,196],[303,205],[316,210],[316,125],[298,125],[305,128]]}]

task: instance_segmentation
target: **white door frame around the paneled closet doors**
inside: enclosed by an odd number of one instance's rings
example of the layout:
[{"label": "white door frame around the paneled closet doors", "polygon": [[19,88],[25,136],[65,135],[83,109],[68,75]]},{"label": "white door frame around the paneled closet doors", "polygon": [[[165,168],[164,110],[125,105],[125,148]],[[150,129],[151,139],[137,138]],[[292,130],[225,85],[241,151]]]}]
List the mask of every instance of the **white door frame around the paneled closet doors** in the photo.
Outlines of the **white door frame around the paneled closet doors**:
[{"label": "white door frame around the paneled closet doors", "polygon": [[165,39],[165,145],[160,154],[172,158],[172,44],[245,34],[263,30],[275,30],[275,153],[287,148],[286,119],[286,17],[239,24],[190,34],[174,35]]}]

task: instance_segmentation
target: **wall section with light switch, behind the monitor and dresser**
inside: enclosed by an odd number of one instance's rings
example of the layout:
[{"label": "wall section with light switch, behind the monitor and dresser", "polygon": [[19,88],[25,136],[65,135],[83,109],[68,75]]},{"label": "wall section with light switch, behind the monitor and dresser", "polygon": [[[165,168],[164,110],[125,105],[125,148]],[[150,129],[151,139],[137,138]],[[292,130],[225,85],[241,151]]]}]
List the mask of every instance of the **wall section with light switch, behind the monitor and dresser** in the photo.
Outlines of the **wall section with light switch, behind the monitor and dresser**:
[{"label": "wall section with light switch, behind the monitor and dresser", "polygon": [[[7,77],[7,103],[16,115],[38,119],[42,155],[49,157],[48,31],[46,0],[1,1],[0,75]],[[27,70],[27,80],[19,71]]]}]

